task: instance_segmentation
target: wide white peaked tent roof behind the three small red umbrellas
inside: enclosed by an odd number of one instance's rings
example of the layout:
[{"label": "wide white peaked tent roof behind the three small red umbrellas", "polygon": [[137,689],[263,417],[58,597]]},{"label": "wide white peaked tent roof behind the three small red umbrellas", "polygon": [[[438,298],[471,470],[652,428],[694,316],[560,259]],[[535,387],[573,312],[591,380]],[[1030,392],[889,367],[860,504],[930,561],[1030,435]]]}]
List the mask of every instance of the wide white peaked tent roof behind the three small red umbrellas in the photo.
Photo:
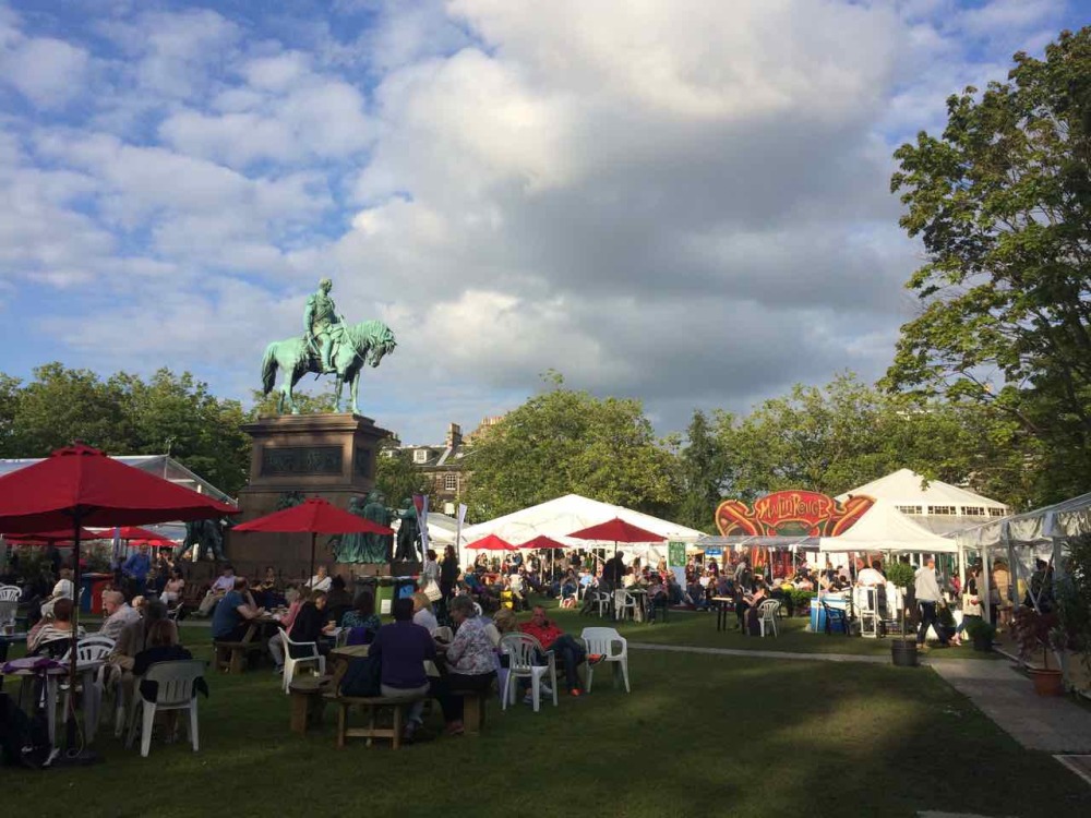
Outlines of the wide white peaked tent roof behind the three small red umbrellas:
[{"label": "wide white peaked tent roof behind the three small red umbrellas", "polygon": [[[695,528],[686,528],[676,522],[652,517],[648,514],[634,512],[623,506],[600,503],[597,500],[583,497],[578,494],[565,494],[563,497],[540,503],[520,512],[506,514],[488,522],[479,522],[476,526],[463,529],[463,538],[467,543],[472,544],[482,537],[496,534],[502,540],[506,540],[513,545],[519,545],[528,540],[532,540],[539,534],[551,537],[560,543],[574,549],[595,548],[596,545],[613,545],[610,542],[596,543],[591,540],[577,540],[568,537],[573,531],[582,528],[598,525],[621,517],[626,522],[634,526],[655,531],[668,540],[682,542],[696,542],[704,537],[704,531]],[[666,548],[666,543],[658,543]],[[643,552],[647,549],[639,544],[631,543],[621,546],[630,551]]]}]

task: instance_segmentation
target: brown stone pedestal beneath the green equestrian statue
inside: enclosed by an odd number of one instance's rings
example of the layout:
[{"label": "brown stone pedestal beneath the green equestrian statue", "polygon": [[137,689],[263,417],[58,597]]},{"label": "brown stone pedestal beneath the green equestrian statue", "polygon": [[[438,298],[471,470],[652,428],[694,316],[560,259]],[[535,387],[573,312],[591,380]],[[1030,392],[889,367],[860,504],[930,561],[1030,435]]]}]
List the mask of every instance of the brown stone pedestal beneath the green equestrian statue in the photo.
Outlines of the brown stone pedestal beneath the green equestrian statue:
[{"label": "brown stone pedestal beneath the green equestrian statue", "polygon": [[[250,482],[239,492],[243,522],[272,514],[292,493],[347,510],[353,497],[367,496],[374,486],[379,444],[391,434],[371,418],[334,413],[264,417],[242,429],[253,438]],[[296,580],[309,570],[311,537],[229,531],[226,550],[239,574],[253,577],[272,565],[284,580]],[[329,537],[319,536],[314,553],[315,565],[334,567]],[[348,568],[340,572],[346,578]]]}]

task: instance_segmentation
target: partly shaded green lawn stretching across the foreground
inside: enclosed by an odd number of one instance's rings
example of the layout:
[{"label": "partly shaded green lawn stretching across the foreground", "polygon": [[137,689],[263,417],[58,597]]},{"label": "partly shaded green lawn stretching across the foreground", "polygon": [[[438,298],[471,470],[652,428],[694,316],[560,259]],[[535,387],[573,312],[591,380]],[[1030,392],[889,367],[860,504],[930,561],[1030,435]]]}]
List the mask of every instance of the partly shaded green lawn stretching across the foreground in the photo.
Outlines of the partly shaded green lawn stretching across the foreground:
[{"label": "partly shaded green lawn stretching across the foreground", "polygon": [[[573,631],[591,624],[562,619]],[[717,635],[705,614],[635,627],[648,641],[747,641]],[[184,637],[197,645],[206,633]],[[750,641],[790,639],[865,641]],[[201,753],[155,744],[142,759],[100,734],[101,765],[4,770],[0,803],[11,815],[157,817],[1091,814],[1091,787],[1021,749],[927,669],[634,651],[631,695],[600,675],[592,695],[562,696],[558,709],[501,714],[494,699],[481,737],[395,754],[359,739],[335,749],[332,713],[321,732],[290,735],[287,697],[267,671],[211,674]]]}]

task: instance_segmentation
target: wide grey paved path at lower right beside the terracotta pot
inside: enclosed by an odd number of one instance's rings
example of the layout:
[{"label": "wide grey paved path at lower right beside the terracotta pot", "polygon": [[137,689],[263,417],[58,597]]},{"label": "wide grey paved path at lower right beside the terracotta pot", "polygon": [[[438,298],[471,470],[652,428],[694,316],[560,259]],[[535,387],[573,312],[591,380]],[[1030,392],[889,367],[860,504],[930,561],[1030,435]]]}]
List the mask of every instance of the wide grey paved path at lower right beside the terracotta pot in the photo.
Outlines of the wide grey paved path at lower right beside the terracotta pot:
[{"label": "wide grey paved path at lower right beside the terracotta pot", "polygon": [[1007,662],[933,662],[933,670],[1028,749],[1091,753],[1091,712],[1062,696],[1039,696]]}]

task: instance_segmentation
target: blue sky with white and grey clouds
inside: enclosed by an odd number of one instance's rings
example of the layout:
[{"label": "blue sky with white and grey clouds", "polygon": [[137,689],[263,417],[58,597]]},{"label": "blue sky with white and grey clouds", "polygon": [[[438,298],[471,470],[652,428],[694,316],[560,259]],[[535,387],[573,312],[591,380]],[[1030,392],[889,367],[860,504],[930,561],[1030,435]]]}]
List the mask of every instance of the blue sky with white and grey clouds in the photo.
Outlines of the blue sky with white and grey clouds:
[{"label": "blue sky with white and grey clouds", "polygon": [[[0,0],[0,371],[250,401],[320,278],[443,440],[546,388],[659,432],[874,380],[916,309],[891,154],[1091,0]],[[310,377],[305,389],[321,388]]]}]

